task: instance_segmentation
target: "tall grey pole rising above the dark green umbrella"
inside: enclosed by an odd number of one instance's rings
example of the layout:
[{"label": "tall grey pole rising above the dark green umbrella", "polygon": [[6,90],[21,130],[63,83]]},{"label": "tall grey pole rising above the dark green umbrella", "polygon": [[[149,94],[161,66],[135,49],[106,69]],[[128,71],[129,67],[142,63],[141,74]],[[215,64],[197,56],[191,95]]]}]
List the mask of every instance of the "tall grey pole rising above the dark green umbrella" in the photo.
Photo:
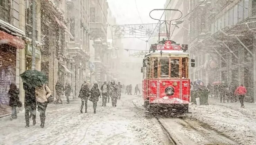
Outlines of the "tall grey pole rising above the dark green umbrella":
[{"label": "tall grey pole rising above the dark green umbrella", "polygon": [[36,68],[36,0],[32,3],[32,18],[33,18],[33,31],[32,31],[32,70]]}]

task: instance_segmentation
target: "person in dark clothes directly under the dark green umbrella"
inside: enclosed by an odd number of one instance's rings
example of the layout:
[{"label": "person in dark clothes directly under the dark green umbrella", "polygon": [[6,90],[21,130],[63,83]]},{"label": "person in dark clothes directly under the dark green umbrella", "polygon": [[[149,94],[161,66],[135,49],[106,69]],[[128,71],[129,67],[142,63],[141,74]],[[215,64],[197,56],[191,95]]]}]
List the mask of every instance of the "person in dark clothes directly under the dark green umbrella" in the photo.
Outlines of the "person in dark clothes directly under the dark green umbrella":
[{"label": "person in dark clothes directly under the dark green umbrella", "polygon": [[29,127],[29,113],[32,114],[33,125],[36,125],[36,95],[35,87],[31,84],[23,82],[23,89],[25,90],[24,108],[26,126]]}]

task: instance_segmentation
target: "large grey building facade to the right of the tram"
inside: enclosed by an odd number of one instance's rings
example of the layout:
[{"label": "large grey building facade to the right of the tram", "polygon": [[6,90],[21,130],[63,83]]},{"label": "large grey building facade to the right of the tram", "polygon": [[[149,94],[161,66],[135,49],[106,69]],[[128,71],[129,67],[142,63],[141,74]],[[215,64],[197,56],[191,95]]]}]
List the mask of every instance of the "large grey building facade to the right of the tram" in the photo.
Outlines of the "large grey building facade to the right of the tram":
[{"label": "large grey building facade to the right of the tram", "polygon": [[247,100],[255,101],[256,1],[191,0],[189,11],[191,80],[223,81],[231,91],[244,84]]}]

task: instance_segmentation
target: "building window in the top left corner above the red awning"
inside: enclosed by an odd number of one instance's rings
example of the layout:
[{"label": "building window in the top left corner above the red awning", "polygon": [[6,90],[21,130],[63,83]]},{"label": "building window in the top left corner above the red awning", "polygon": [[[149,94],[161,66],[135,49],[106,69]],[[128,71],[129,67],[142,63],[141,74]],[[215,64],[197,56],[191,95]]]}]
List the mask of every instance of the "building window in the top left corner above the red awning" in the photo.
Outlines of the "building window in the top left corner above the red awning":
[{"label": "building window in the top left corner above the red awning", "polygon": [[5,22],[10,22],[10,9],[8,0],[0,0],[0,19]]}]

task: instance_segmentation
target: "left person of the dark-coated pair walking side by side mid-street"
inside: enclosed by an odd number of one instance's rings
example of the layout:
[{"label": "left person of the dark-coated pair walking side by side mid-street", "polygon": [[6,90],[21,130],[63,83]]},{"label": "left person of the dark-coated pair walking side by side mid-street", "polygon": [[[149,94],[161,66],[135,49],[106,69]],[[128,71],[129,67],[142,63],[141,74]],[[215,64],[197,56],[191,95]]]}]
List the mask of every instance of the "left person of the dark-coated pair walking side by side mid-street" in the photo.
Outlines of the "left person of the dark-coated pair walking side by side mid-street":
[{"label": "left person of the dark-coated pair walking side by side mid-street", "polygon": [[89,85],[87,83],[84,83],[81,86],[80,92],[79,92],[79,98],[81,98],[81,107],[80,107],[80,112],[83,113],[83,106],[85,105],[85,112],[87,112],[87,101],[88,98],[90,96],[90,89],[89,89]]}]

